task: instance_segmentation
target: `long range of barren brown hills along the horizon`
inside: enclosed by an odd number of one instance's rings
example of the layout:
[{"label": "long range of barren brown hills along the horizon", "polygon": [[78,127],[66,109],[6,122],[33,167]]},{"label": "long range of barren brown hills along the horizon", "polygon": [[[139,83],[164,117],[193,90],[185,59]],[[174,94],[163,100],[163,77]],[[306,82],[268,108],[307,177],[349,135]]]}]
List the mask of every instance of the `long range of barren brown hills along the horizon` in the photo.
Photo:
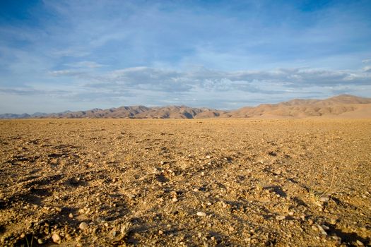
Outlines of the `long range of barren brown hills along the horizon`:
[{"label": "long range of barren brown hills along the horizon", "polygon": [[370,118],[371,98],[338,95],[326,100],[290,100],[278,104],[260,104],[257,107],[223,111],[186,106],[118,107],[90,109],[57,114],[0,114],[0,119],[29,118],[126,118],[126,119],[208,119],[208,118]]}]

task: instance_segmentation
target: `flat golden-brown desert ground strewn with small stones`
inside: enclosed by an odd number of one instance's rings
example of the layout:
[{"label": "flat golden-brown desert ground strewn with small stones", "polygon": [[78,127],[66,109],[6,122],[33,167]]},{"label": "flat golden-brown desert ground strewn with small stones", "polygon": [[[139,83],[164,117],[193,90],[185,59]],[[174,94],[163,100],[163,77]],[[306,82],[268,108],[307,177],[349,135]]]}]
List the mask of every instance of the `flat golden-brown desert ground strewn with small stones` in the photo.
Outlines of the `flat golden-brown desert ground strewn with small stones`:
[{"label": "flat golden-brown desert ground strewn with small stones", "polygon": [[370,245],[370,120],[0,130],[1,246]]}]

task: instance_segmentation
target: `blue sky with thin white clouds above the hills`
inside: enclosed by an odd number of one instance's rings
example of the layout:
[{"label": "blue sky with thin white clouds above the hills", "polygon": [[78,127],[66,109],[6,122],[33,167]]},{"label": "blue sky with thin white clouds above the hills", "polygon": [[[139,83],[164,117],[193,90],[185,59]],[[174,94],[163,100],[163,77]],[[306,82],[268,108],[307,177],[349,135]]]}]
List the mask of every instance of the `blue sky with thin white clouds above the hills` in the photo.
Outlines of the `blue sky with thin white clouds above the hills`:
[{"label": "blue sky with thin white clouds above the hills", "polygon": [[0,114],[371,97],[371,1],[1,0]]}]

